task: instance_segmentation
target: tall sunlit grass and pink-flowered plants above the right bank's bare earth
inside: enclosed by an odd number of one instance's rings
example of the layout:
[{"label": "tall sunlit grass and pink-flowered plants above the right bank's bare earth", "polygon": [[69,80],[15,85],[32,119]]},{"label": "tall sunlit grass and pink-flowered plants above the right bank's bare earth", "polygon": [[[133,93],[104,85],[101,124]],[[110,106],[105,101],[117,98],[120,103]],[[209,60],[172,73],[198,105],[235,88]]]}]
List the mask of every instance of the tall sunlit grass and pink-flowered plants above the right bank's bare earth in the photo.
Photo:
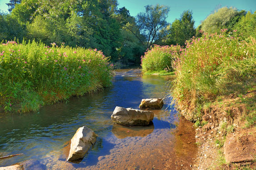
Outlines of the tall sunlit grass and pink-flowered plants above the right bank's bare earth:
[{"label": "tall sunlit grass and pink-flowered plants above the right bank's bare earth", "polygon": [[200,108],[216,96],[244,92],[256,85],[255,39],[246,42],[236,30],[225,32],[191,38],[173,61],[176,79],[172,95],[179,105],[191,110],[191,119],[200,118]]}]

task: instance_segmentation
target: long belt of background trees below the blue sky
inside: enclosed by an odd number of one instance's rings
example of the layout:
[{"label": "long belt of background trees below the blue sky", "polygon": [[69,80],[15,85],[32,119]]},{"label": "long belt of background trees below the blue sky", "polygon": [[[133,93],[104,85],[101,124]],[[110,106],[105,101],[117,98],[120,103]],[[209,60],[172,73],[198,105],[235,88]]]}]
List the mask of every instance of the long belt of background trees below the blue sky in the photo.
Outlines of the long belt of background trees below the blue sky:
[{"label": "long belt of background trees below the blue sky", "polygon": [[10,0],[10,14],[0,13],[0,41],[14,38],[51,42],[70,47],[97,48],[111,61],[140,64],[140,57],[154,44],[184,45],[201,29],[208,33],[237,29],[256,37],[256,13],[221,8],[194,28],[192,11],[168,23],[169,7],[147,5],[136,17],[117,0]]}]

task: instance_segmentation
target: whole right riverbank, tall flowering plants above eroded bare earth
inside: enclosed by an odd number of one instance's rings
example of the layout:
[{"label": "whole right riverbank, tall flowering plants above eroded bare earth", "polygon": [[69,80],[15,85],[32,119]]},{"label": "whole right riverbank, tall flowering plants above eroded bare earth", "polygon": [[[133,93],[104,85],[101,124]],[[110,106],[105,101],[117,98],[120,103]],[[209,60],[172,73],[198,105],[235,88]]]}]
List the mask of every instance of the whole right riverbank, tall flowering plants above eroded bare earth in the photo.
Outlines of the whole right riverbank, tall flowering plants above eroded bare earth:
[{"label": "whole right riverbank, tall flowering plants above eroded bare earth", "polygon": [[256,41],[240,38],[206,33],[173,62],[171,95],[196,128],[194,170],[255,167]]}]

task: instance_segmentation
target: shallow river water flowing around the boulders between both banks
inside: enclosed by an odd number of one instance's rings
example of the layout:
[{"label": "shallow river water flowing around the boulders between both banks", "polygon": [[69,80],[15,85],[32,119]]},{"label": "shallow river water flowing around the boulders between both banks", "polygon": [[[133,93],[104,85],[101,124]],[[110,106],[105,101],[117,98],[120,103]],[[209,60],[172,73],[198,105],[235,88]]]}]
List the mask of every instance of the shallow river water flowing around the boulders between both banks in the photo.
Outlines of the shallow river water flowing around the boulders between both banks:
[{"label": "shallow river water flowing around the boulders between both banks", "polygon": [[[168,76],[141,76],[140,70],[119,70],[113,85],[71,98],[68,103],[42,107],[35,113],[0,113],[0,166],[24,163],[40,170],[172,170],[190,169],[196,154],[192,123],[167,108],[153,110],[153,124],[125,127],[113,124],[115,106],[139,109],[141,99],[163,98]],[[167,109],[166,109],[167,108]],[[171,111],[170,111],[171,110]],[[98,135],[80,162],[65,161],[70,139],[79,127]]]}]

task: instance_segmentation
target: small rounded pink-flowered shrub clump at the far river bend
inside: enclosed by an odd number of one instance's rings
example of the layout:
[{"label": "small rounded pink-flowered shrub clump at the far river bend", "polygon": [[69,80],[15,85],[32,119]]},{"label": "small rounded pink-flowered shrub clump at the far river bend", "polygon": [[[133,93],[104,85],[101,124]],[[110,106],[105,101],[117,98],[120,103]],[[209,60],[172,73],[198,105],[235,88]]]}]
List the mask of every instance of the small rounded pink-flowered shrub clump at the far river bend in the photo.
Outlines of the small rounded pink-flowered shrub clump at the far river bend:
[{"label": "small rounded pink-flowered shrub clump at the far river bend", "polygon": [[171,62],[174,56],[179,54],[183,49],[180,46],[158,46],[155,45],[151,50],[141,56],[141,66],[146,71],[172,71]]}]

